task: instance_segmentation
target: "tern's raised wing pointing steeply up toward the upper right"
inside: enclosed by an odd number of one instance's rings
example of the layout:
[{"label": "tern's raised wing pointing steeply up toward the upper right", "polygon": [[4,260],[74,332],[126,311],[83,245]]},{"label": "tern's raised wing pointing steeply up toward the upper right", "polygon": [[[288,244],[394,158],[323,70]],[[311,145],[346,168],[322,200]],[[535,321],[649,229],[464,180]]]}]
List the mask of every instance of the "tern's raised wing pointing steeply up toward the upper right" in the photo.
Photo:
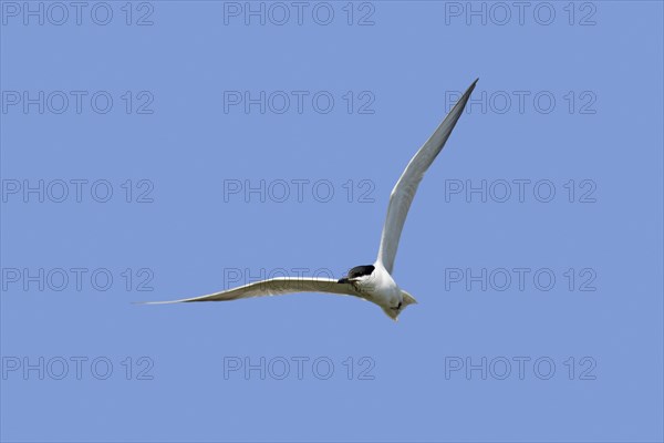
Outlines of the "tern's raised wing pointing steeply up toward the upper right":
[{"label": "tern's raised wing pointing steeply up toward the upper right", "polygon": [[419,182],[422,182],[422,177],[424,177],[426,169],[434,163],[434,159],[436,159],[436,156],[443,150],[443,146],[445,146],[445,142],[447,142],[449,134],[452,134],[452,130],[454,130],[456,122],[461,116],[476,83],[477,80],[473,82],[457,104],[449,111],[449,114],[447,114],[443,123],[440,123],[440,126],[438,126],[436,132],[434,132],[424,146],[417,151],[417,154],[411,158],[406,169],[398,182],[396,182],[394,189],[392,189],[392,194],[390,194],[387,217],[385,218],[385,225],[383,226],[381,248],[378,249],[378,260],[390,274],[392,274],[392,269],[394,268],[394,258],[396,257],[396,249],[398,248],[398,239],[404,223],[406,222],[406,216],[408,215],[408,208],[415,197],[417,186],[419,186]]}]

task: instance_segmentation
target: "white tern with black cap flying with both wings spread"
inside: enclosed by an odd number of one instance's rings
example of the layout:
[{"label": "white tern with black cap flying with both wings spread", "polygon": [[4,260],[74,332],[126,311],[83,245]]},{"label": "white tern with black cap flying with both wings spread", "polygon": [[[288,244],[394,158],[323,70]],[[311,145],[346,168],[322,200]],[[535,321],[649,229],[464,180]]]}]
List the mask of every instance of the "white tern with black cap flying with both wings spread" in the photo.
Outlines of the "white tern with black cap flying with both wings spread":
[{"label": "white tern with black cap flying with both wings spread", "polygon": [[419,151],[417,151],[398,182],[396,182],[394,189],[392,189],[390,205],[387,206],[387,217],[381,236],[378,257],[373,265],[356,266],[347,272],[346,277],[340,280],[329,278],[279,277],[207,296],[173,301],[153,301],[147,303],[160,305],[189,301],[228,301],[241,298],[279,296],[295,292],[324,292],[355,296],[372,301],[378,305],[390,318],[396,321],[400,313],[408,305],[417,302],[413,296],[401,289],[392,278],[394,258],[396,256],[396,249],[398,248],[398,239],[404,223],[406,222],[406,216],[408,215],[408,208],[411,207],[411,203],[413,203],[415,192],[424,177],[424,173],[426,173],[434,159],[436,159],[438,153],[443,150],[443,146],[445,146],[445,142],[447,142],[449,134],[452,134],[452,130],[454,130],[454,126],[461,116],[476,83],[477,80],[473,82],[468,90],[466,90],[464,95],[452,109],[449,114],[447,114],[429,140],[426,141]]}]

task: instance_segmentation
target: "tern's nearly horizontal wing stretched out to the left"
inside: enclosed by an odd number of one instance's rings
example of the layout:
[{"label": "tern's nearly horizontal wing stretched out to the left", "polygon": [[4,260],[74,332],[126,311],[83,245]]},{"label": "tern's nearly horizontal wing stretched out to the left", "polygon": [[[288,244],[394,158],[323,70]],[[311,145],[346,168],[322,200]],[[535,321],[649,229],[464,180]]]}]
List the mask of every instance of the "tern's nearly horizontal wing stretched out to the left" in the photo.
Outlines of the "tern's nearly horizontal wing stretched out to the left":
[{"label": "tern's nearly horizontal wing stretched out to the left", "polygon": [[281,296],[295,292],[324,292],[362,297],[350,284],[340,284],[329,278],[278,277],[215,292],[207,296],[173,301],[147,301],[146,305],[180,303],[188,301],[228,301],[240,298]]}]

